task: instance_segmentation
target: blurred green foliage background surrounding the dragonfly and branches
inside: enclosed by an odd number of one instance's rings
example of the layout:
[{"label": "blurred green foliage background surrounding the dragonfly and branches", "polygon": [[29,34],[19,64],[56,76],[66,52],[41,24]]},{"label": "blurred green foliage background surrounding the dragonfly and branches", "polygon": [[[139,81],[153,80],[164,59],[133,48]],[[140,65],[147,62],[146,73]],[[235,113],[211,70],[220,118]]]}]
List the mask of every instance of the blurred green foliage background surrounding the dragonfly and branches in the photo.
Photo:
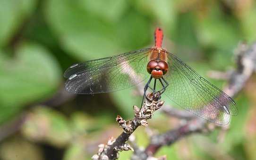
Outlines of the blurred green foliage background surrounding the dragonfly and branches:
[{"label": "blurred green foliage background surrounding the dragonfly and branches", "polygon": [[[89,160],[97,146],[117,137],[120,114],[133,117],[135,88],[99,95],[69,95],[69,65],[154,45],[163,46],[222,88],[210,70],[235,66],[240,41],[256,40],[254,0],[0,0],[0,160]],[[224,138],[219,130],[162,147],[170,160],[256,160],[256,77],[235,98]],[[157,112],[149,127],[162,133],[179,120]],[[135,136],[149,143],[148,130]],[[131,151],[121,152],[120,160]]]}]

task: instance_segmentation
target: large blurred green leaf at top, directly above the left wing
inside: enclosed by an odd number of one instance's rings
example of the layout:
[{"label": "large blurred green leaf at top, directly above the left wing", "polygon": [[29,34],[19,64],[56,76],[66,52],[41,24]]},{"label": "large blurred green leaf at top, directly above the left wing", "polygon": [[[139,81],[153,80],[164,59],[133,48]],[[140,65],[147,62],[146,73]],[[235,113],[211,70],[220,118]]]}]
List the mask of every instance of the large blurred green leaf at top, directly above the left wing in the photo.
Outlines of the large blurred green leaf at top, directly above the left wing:
[{"label": "large blurred green leaf at top, directly above the left wing", "polygon": [[[103,0],[94,3],[92,8],[87,3],[91,4],[89,1],[68,0],[48,0],[45,4],[48,24],[60,40],[61,47],[71,56],[84,60],[102,58],[143,48],[150,39],[153,40],[149,22],[140,13],[123,15],[116,6],[102,9],[101,6],[106,3]],[[119,2],[116,5],[124,4]],[[91,11],[93,8],[97,10]],[[104,10],[111,9],[118,16],[109,18],[114,14]]]}]

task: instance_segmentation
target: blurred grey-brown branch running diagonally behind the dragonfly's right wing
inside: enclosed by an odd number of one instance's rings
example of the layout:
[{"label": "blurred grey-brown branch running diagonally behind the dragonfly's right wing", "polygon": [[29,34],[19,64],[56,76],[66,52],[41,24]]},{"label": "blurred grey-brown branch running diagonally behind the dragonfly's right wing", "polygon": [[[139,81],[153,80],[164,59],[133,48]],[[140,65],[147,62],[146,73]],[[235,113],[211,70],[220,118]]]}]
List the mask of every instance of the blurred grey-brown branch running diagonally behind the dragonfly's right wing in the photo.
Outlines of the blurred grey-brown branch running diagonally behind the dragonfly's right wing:
[{"label": "blurred grey-brown branch running diagonally behind the dragonfly's right wing", "polygon": [[[244,88],[247,80],[252,76],[256,68],[256,43],[254,43],[250,48],[247,48],[245,44],[240,44],[238,48],[238,67],[231,72],[229,76],[229,83],[223,88],[223,91],[231,97],[236,96]],[[135,150],[132,160],[146,160],[148,157],[154,155],[154,153],[162,146],[171,145],[184,136],[188,136],[193,133],[212,131],[215,127],[220,127],[217,124],[208,123],[200,118],[193,119],[186,111],[173,108],[168,110],[166,107],[162,108],[165,113],[171,116],[183,119],[191,118],[191,120],[179,128],[153,136],[150,144],[146,147],[144,152]],[[226,129],[226,126],[223,126],[222,128]]]}]

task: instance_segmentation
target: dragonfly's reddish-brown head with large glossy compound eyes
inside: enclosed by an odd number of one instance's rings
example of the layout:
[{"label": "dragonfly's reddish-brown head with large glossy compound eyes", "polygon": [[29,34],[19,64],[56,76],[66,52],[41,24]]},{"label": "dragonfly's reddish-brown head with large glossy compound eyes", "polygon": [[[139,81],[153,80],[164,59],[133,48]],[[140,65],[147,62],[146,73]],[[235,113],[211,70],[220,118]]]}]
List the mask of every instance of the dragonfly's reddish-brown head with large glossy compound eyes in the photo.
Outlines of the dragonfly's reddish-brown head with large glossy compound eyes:
[{"label": "dragonfly's reddish-brown head with large glossy compound eyes", "polygon": [[162,60],[151,60],[147,64],[147,72],[155,79],[162,78],[168,71],[168,64]]}]

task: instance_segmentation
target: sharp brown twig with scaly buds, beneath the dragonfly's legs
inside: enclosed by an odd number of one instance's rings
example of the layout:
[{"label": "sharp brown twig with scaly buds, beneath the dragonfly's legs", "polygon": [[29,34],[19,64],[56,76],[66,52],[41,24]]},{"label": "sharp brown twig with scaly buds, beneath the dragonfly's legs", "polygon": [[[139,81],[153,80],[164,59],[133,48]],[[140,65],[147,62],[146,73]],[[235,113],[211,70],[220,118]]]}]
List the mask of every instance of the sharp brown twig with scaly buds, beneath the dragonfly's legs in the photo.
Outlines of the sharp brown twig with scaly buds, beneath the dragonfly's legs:
[{"label": "sharp brown twig with scaly buds, beneath the dragonfly's legs", "polygon": [[119,151],[133,150],[128,141],[129,136],[136,130],[140,125],[147,127],[147,120],[151,119],[153,113],[161,108],[163,101],[160,101],[160,92],[149,93],[145,98],[145,103],[142,108],[139,109],[137,106],[133,106],[134,119],[123,120],[121,116],[117,116],[116,121],[119,126],[123,128],[123,132],[117,139],[111,138],[107,144],[100,144],[99,151],[95,154],[93,160],[116,160],[119,157]]}]

